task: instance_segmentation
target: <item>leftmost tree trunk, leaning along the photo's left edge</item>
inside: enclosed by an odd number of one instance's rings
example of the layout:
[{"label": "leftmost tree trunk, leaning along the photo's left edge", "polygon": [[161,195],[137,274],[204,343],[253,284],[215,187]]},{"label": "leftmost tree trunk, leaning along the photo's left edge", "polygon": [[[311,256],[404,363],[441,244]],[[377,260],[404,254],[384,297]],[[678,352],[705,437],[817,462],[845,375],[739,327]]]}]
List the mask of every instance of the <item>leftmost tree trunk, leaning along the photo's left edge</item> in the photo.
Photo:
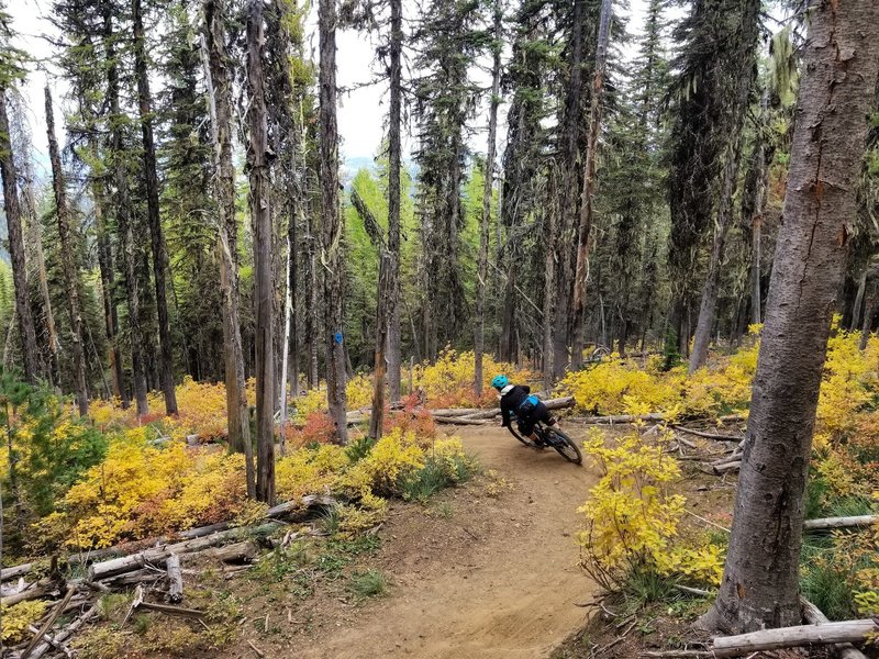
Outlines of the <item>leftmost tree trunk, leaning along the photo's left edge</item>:
[{"label": "leftmost tree trunk, leaning along the photo's left edge", "polygon": [[18,175],[12,155],[12,142],[7,115],[7,90],[0,86],[0,176],[3,179],[3,204],[9,228],[9,256],[12,260],[12,281],[15,288],[15,317],[24,358],[24,379],[36,382],[40,377],[40,353],[36,349],[36,331],[27,295],[27,272],[24,264],[24,237],[21,228],[21,205],[19,204]]}]

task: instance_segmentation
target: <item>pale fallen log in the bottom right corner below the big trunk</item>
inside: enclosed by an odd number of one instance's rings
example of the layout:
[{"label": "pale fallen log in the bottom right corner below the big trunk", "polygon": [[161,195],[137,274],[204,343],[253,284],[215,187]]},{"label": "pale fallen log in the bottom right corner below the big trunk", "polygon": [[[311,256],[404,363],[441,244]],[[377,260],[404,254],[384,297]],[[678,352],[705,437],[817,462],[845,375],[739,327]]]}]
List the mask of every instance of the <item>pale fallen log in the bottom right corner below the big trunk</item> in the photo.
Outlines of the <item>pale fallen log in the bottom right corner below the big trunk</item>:
[{"label": "pale fallen log in the bottom right corner below the big trunk", "polygon": [[763,650],[779,650],[808,645],[836,645],[863,643],[867,635],[879,632],[871,619],[800,625],[780,629],[761,629],[737,636],[720,636],[714,639],[714,657],[739,657]]}]

